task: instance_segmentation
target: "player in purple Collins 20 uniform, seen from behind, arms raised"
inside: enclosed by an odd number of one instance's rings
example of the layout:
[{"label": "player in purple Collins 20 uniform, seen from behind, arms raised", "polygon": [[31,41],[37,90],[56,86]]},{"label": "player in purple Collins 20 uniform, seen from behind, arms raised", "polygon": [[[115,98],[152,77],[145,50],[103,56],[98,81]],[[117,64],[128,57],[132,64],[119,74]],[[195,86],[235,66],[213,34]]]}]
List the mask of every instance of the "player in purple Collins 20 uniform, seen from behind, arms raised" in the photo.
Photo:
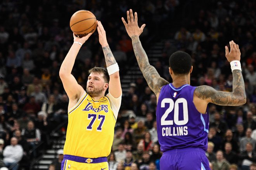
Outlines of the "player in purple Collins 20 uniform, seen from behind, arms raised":
[{"label": "player in purple Collins 20 uniform, seen from behind, arms raised", "polygon": [[137,13],[127,11],[122,18],[133,50],[145,79],[157,96],[157,136],[163,156],[161,170],[209,170],[206,158],[209,128],[208,103],[242,105],[246,103],[244,80],[241,73],[240,50],[234,41],[226,46],[226,58],[233,73],[233,92],[220,92],[209,86],[190,86],[192,62],[189,54],[177,51],[170,56],[169,72],[173,80],[168,83],[149,64],[139,36],[145,24],[138,27]]}]

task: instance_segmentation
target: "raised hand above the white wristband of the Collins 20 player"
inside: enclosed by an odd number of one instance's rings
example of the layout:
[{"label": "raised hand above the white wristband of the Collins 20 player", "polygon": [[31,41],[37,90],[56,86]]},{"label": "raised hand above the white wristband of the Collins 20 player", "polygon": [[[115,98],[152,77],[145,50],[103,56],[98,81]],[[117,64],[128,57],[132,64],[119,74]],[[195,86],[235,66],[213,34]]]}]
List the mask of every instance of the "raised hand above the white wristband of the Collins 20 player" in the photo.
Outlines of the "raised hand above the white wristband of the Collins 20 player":
[{"label": "raised hand above the white wristband of the Collins 20 player", "polygon": [[225,46],[226,58],[228,59],[228,62],[231,62],[234,60],[240,61],[241,52],[238,44],[235,44],[233,40],[229,41],[229,44],[230,44],[230,52],[228,50],[228,47]]}]

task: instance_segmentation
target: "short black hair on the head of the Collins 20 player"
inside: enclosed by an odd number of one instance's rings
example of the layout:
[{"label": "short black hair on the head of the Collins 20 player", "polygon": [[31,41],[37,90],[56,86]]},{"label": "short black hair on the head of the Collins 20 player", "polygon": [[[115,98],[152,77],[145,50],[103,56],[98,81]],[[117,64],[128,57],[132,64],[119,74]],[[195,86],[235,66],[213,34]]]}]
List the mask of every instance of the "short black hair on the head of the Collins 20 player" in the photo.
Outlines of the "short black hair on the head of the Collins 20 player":
[{"label": "short black hair on the head of the Collins 20 player", "polygon": [[191,56],[183,51],[176,51],[169,58],[169,66],[175,74],[187,74],[192,66]]}]

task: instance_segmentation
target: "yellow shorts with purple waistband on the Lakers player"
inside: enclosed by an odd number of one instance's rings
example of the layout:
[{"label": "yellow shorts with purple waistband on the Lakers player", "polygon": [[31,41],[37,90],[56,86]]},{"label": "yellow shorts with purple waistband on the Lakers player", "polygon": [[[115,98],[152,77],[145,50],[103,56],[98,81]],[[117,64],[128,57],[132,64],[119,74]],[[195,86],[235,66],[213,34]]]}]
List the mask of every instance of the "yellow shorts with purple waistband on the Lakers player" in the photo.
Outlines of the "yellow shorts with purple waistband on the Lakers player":
[{"label": "yellow shorts with purple waistband on the Lakers player", "polygon": [[80,156],[64,155],[61,170],[109,170],[106,157],[83,158]]}]

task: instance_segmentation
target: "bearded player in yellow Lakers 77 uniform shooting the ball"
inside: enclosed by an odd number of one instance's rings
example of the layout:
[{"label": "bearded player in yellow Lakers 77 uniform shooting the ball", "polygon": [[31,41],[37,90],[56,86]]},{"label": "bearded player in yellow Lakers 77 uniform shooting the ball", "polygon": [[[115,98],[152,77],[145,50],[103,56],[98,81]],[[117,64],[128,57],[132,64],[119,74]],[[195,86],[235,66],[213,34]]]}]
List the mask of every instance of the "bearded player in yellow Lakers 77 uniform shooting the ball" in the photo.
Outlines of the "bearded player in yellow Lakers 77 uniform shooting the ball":
[{"label": "bearded player in yellow Lakers 77 uniform shooting the ball", "polygon": [[[106,32],[97,21],[99,42],[102,46],[106,68],[94,67],[86,84],[86,91],[71,74],[79,49],[91,36],[76,37],[59,75],[69,97],[68,125],[64,145],[62,170],[108,170],[107,157],[114,138],[114,126],[121,105],[119,67],[109,48]],[[107,88],[109,93],[104,96]]]}]

